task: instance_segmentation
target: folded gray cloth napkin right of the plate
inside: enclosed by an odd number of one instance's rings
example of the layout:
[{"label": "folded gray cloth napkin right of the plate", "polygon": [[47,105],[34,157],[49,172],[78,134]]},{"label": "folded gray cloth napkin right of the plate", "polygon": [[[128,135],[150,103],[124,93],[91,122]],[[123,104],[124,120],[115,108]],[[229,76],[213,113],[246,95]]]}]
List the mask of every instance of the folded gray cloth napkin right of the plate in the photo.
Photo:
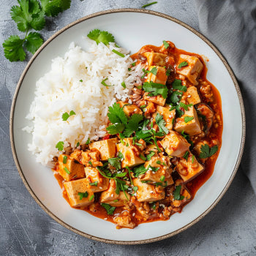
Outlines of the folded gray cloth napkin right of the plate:
[{"label": "folded gray cloth napkin right of the plate", "polygon": [[195,0],[195,5],[200,31],[225,56],[243,95],[246,143],[240,168],[256,193],[256,1]]}]

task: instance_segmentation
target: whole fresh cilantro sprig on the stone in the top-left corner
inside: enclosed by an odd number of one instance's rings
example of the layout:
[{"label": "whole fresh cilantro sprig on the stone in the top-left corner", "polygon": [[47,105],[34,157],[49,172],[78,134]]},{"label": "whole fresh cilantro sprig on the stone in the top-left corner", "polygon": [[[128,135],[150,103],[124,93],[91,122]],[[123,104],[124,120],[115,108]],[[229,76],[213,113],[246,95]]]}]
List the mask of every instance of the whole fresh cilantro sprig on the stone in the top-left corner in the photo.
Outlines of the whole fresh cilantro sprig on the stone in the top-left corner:
[{"label": "whole fresh cilantro sprig on the stone in the top-left corner", "polygon": [[34,54],[42,45],[43,39],[37,32],[45,27],[45,15],[54,17],[69,9],[71,0],[18,0],[12,6],[10,15],[17,23],[18,30],[25,33],[23,38],[11,35],[3,42],[4,56],[9,61],[24,61],[26,51]]}]

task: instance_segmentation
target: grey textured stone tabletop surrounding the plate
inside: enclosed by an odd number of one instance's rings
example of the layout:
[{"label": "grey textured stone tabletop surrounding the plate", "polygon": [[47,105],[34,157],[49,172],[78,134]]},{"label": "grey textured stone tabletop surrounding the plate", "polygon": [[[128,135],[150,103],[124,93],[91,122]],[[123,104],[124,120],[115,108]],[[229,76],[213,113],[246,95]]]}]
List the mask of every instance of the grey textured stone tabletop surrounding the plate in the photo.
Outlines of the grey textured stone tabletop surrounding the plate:
[{"label": "grey textured stone tabletop surrounding the plate", "polygon": [[[48,19],[42,36],[48,39],[68,23],[93,12],[140,8],[148,2],[151,1],[72,0],[69,10]],[[10,18],[14,4],[15,0],[0,0],[0,45],[10,34],[20,34]],[[148,9],[172,15],[199,30],[193,1],[160,0]],[[183,233],[154,244],[103,244],[78,236],[53,221],[24,187],[10,148],[10,106],[28,60],[11,63],[0,47],[0,255],[256,255],[256,199],[241,170],[206,217]]]}]

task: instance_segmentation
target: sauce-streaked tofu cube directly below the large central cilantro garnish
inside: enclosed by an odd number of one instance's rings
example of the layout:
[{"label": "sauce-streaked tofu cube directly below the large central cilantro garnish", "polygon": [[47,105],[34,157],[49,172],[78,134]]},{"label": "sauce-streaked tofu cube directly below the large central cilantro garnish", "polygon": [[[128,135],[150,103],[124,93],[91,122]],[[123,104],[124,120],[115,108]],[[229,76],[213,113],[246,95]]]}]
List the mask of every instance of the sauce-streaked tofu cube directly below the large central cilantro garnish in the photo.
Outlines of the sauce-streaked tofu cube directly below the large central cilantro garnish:
[{"label": "sauce-streaked tofu cube directly below the large central cilantro garnish", "polygon": [[124,144],[118,143],[116,145],[117,151],[123,154],[124,159],[121,162],[121,167],[135,167],[136,165],[143,164],[145,161],[140,158],[140,154],[144,157],[144,154],[138,151],[134,145],[132,145],[132,138],[125,138]]}]

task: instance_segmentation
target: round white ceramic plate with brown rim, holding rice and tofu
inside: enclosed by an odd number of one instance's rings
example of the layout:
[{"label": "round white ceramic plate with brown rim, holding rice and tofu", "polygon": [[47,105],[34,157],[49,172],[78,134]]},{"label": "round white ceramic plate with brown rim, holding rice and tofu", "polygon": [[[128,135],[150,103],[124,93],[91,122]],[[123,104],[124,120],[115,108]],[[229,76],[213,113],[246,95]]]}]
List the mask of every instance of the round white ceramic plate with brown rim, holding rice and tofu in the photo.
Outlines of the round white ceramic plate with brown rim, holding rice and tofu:
[{"label": "round white ceramic plate with brown rim, holding rice and tofu", "polygon": [[[50,70],[51,60],[64,56],[70,42],[86,50],[83,36],[92,29],[112,33],[118,45],[135,53],[143,45],[161,45],[170,40],[177,48],[208,57],[208,80],[222,97],[224,129],[222,148],[211,178],[203,185],[181,214],[168,221],[142,224],[133,230],[116,226],[85,211],[71,208],[61,195],[58,182],[47,167],[35,162],[27,150],[31,135],[21,129],[29,124],[25,116],[34,98],[36,81]],[[236,118],[234,118],[236,115]],[[193,225],[213,208],[224,195],[238,168],[244,147],[244,105],[227,62],[201,34],[179,20],[145,10],[110,10],[89,15],[69,24],[50,37],[29,61],[18,83],[12,102],[10,136],[12,152],[21,178],[34,199],[53,219],[82,236],[116,244],[141,244],[175,235]],[[227,157],[228,156],[228,157]]]}]

